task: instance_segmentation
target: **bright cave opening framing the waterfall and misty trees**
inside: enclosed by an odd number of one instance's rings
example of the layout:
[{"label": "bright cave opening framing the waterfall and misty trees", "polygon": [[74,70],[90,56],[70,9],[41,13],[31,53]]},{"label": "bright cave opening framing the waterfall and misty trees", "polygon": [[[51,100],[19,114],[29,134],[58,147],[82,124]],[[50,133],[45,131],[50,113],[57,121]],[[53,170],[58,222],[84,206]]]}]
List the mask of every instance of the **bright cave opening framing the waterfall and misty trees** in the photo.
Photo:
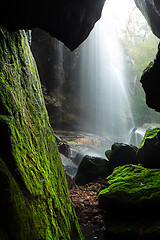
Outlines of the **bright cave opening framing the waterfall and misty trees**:
[{"label": "bright cave opening framing the waterfall and misty trees", "polygon": [[114,142],[139,147],[146,129],[160,123],[159,113],[146,106],[140,84],[157,46],[133,0],[106,1],[101,19],[73,52],[34,29],[31,48],[56,133],[71,132],[71,141],[76,135],[99,138],[105,148]]}]

